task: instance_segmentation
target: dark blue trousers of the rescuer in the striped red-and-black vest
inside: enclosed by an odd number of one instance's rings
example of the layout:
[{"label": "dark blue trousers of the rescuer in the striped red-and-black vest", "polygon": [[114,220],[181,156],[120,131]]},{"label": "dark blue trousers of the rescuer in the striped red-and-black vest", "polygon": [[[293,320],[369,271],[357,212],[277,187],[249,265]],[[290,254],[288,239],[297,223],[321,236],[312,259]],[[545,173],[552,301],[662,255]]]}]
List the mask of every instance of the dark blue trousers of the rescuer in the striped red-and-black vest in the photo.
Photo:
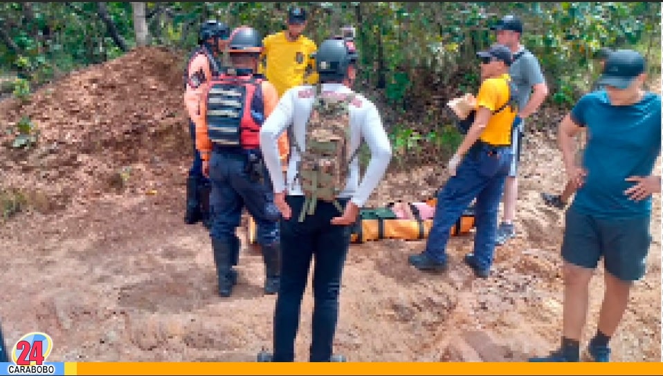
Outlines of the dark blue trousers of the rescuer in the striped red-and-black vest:
[{"label": "dark blue trousers of the rescuer in the striped red-and-black vest", "polygon": [[274,205],[274,193],[266,168],[263,182],[252,181],[245,171],[248,158],[242,152],[212,151],[210,157],[210,236],[231,241],[246,207],[257,225],[257,242],[271,245],[279,240],[280,213]]}]

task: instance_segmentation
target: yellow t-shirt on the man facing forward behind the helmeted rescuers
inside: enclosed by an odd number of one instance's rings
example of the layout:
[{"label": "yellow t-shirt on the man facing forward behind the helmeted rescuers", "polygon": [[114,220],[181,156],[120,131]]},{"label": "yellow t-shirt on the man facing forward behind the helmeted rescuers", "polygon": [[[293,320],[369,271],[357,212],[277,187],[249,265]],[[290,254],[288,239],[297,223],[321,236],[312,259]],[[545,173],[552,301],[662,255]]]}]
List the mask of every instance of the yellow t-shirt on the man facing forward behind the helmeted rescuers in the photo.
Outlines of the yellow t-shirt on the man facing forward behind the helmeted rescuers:
[{"label": "yellow t-shirt on the man facing forward behind the helmeted rescuers", "polygon": [[[289,41],[282,31],[266,36],[262,44],[264,48],[259,72],[275,86],[279,97],[289,88],[318,81],[315,62],[311,59],[311,54],[318,50],[316,42],[304,35],[300,35],[296,41]],[[311,67],[311,74],[305,79],[307,66]]]}]

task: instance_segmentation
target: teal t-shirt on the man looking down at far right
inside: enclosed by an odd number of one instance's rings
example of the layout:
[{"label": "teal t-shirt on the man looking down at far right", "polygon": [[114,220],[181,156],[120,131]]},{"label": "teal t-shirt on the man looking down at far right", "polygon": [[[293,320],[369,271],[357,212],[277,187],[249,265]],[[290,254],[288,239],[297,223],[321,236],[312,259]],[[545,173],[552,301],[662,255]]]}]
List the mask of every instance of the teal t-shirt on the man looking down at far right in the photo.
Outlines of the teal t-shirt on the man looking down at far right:
[{"label": "teal t-shirt on the man looking down at far right", "polygon": [[612,106],[606,91],[594,91],[581,97],[571,118],[588,131],[583,154],[587,176],[574,209],[596,218],[651,215],[651,197],[630,200],[624,191],[635,183],[625,179],[652,175],[661,151],[661,96],[646,93],[636,104]]}]

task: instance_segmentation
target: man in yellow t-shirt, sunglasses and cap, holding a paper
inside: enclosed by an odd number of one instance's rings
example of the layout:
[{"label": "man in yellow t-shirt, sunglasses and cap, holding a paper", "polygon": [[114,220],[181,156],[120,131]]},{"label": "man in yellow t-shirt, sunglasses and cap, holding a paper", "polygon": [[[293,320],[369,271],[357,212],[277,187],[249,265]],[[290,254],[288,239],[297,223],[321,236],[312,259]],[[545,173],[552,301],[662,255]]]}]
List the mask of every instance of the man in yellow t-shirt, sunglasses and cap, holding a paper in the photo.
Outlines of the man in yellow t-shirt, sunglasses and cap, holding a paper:
[{"label": "man in yellow t-shirt, sunglasses and cap, holding a paper", "polygon": [[511,101],[511,51],[495,44],[477,55],[483,81],[476,97],[474,121],[448,162],[451,177],[437,194],[426,249],[411,255],[409,262],[419,270],[446,270],[451,227],[476,198],[474,251],[465,256],[464,262],[476,276],[487,278],[496,247],[500,199],[513,158],[511,132],[518,118]]}]

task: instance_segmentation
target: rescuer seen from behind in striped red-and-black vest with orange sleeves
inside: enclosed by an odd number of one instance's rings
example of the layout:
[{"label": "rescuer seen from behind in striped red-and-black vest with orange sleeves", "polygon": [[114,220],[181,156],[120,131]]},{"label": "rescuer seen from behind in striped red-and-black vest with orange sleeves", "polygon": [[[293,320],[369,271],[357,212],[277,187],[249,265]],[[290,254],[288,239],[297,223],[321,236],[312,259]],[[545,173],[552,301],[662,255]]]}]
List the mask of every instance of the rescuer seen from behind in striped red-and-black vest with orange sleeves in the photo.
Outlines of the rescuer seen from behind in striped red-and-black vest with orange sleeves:
[{"label": "rescuer seen from behind in striped red-and-black vest with orange sleeves", "polygon": [[219,295],[230,297],[237,283],[233,265],[239,258],[235,235],[246,207],[257,223],[257,241],[265,263],[265,294],[279,288],[280,214],[260,151],[260,128],[272,113],[278,93],[256,74],[262,36],[254,28],[233,30],[228,41],[230,66],[206,82],[194,106],[196,148],[202,172],[210,178],[210,238],[219,280]]}]

